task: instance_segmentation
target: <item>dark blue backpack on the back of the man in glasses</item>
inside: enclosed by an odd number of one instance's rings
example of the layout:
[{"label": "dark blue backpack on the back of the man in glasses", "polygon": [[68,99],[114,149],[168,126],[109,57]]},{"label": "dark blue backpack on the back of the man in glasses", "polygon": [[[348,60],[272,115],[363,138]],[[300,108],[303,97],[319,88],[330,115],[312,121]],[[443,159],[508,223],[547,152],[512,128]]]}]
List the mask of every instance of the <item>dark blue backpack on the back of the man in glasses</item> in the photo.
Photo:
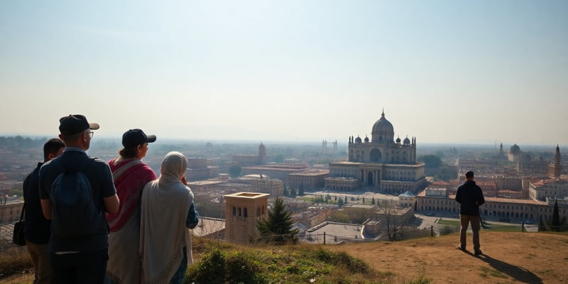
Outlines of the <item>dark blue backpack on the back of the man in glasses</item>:
[{"label": "dark blue backpack on the back of the man in glasses", "polygon": [[82,173],[93,160],[85,160],[79,168],[63,165],[63,172],[55,178],[50,191],[55,236],[90,236],[99,229],[102,212],[94,205],[91,182]]}]

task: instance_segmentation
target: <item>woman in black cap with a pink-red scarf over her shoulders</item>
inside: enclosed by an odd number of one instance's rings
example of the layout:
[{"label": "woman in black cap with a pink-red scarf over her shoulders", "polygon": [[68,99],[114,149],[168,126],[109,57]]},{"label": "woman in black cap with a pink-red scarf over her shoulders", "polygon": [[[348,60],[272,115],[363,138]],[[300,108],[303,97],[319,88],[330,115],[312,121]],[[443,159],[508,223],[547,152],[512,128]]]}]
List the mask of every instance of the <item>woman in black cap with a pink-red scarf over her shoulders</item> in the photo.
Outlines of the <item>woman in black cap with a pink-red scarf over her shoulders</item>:
[{"label": "woman in black cap with a pink-red scarf over her shoulders", "polygon": [[119,157],[109,160],[120,207],[107,214],[109,222],[109,261],[105,283],[141,283],[140,198],[146,183],[156,179],[154,171],[141,159],[155,136],[131,129],[122,136]]}]

